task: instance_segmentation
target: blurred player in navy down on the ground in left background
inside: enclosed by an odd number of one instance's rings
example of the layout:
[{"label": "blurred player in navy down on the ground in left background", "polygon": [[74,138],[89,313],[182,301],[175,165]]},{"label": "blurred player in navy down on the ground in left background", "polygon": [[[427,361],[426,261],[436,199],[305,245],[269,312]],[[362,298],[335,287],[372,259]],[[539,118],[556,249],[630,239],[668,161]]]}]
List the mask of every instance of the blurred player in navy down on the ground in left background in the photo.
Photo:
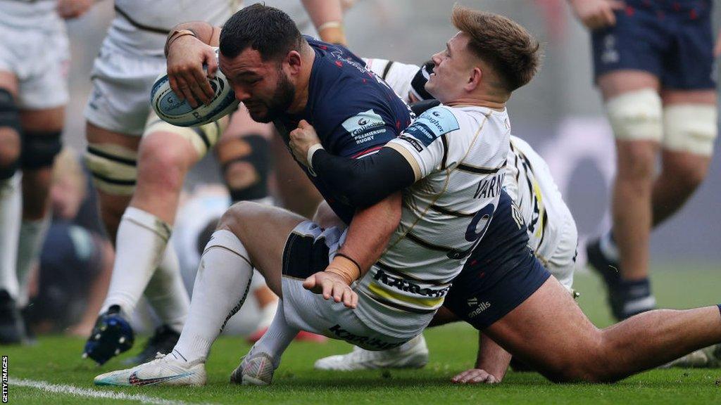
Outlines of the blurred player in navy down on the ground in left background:
[{"label": "blurred player in navy down on the ground in left background", "polygon": [[97,200],[79,156],[63,148],[53,168],[53,221],[40,262],[30,272],[25,311],[32,335],[66,333],[86,337],[107,293],[112,245],[97,217]]}]

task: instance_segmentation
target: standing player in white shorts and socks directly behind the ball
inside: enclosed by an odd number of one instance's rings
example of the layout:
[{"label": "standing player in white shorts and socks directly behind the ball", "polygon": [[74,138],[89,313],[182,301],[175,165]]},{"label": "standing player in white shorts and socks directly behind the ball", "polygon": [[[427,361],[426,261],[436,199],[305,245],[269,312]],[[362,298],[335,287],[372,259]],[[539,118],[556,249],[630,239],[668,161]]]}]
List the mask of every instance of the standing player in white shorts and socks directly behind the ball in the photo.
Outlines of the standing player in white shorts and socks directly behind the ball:
[{"label": "standing player in white shorts and socks directly behind the ball", "polygon": [[[338,1],[303,3],[314,21],[341,18]],[[126,320],[143,294],[163,325],[136,361],[167,352],[179,337],[189,299],[167,241],[185,174],[213,147],[227,120],[200,128],[169,125],[152,112],[149,92],[166,69],[166,40],[193,35],[173,31],[174,25],[191,19],[222,25],[241,6],[235,0],[115,1],[116,16],[94,63],[85,110],[87,164],[117,249],[107,298],[84,347],[84,356],[100,364],[132,347]],[[208,102],[209,82],[200,82],[200,89],[198,102]]]}]

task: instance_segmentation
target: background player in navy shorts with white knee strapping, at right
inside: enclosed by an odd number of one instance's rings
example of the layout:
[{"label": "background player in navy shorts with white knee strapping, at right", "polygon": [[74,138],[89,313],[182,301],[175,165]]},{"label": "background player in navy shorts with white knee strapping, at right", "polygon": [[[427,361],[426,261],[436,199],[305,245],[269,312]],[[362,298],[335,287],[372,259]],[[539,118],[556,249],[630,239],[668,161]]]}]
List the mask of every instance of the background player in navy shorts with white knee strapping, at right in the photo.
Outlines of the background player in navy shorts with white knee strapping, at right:
[{"label": "background player in navy shorts with white knee strapping, at right", "polygon": [[[706,177],[717,135],[711,0],[569,0],[616,138],[613,226],[587,245],[616,319],[655,308],[650,231]],[[657,174],[657,159],[661,161]]]}]

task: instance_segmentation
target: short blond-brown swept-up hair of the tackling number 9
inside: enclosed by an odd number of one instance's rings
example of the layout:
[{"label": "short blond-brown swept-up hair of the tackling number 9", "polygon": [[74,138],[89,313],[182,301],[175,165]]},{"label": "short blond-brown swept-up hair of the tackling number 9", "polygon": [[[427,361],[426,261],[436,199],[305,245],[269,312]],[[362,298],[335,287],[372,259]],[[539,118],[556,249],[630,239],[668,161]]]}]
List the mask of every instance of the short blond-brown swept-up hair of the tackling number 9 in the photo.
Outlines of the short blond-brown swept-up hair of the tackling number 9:
[{"label": "short blond-brown swept-up hair of the tackling number 9", "polygon": [[451,22],[469,35],[469,50],[490,64],[508,92],[533,79],[541,64],[541,45],[517,22],[456,4]]}]

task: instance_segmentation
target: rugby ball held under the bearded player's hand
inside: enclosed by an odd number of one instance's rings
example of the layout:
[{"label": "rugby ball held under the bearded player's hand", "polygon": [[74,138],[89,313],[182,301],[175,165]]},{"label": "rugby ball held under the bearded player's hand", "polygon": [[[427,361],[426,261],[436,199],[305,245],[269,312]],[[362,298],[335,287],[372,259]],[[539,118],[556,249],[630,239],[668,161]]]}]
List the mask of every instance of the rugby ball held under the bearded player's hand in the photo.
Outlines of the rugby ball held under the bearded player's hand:
[{"label": "rugby ball held under the bearded player's hand", "polygon": [[[216,48],[216,58],[218,48]],[[211,81],[215,95],[210,104],[190,107],[185,99],[178,99],[170,88],[167,74],[161,74],[155,80],[150,92],[150,103],[155,113],[167,123],[179,127],[198,127],[219,120],[238,107],[235,92],[220,69]]]}]

